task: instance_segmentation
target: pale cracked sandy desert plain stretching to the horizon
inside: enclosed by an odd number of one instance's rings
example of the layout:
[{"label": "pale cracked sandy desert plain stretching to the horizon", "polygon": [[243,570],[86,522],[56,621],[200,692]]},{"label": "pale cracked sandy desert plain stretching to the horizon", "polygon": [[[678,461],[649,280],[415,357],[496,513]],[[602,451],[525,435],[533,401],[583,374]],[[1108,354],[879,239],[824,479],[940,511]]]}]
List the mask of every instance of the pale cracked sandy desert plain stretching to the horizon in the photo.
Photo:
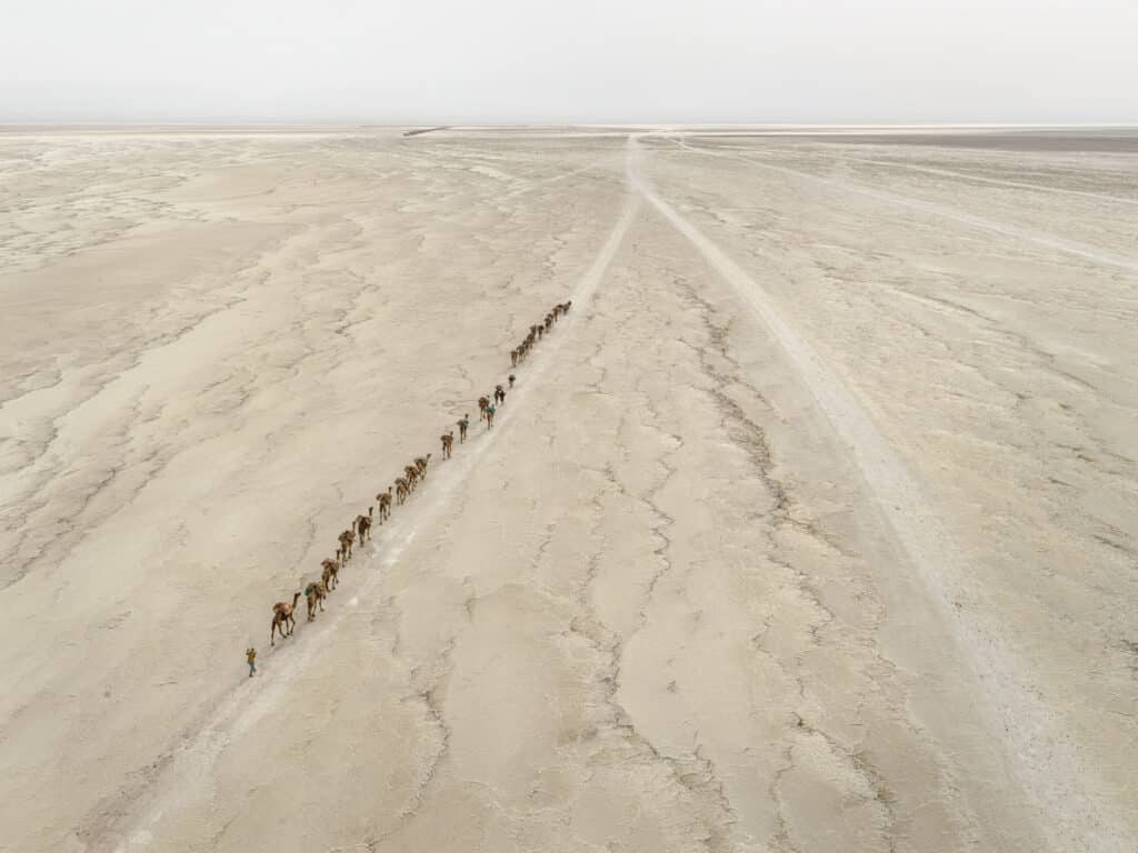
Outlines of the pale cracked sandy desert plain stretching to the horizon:
[{"label": "pale cracked sandy desert plain stretching to the horizon", "polygon": [[0,848],[1138,850],[1138,154],[948,141],[0,136]]}]

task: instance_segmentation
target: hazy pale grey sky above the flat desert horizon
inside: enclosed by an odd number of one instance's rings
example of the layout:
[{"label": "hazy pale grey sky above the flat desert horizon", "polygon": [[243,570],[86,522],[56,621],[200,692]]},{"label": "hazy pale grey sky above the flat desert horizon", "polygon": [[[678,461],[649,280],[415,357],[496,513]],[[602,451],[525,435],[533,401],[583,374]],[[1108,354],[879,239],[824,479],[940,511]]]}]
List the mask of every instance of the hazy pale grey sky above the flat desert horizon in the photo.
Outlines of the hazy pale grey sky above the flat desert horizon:
[{"label": "hazy pale grey sky above the flat desert horizon", "polygon": [[0,0],[57,121],[1138,123],[1138,0]]}]

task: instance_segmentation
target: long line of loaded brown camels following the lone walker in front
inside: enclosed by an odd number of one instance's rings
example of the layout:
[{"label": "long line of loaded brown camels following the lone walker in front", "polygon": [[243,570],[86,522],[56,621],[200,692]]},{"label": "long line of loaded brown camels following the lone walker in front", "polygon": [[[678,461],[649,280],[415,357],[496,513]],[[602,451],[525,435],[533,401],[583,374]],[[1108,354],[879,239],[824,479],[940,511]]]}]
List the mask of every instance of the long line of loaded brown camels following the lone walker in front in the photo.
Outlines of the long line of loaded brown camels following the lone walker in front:
[{"label": "long line of loaded brown camels following the lone walker in front", "polygon": [[[529,333],[521,343],[510,350],[510,366],[518,367],[520,364],[523,364],[534,346],[553,329],[558,320],[569,313],[569,308],[571,307],[572,300],[554,305],[541,323],[529,326]],[[479,421],[486,423],[487,430],[494,429],[494,415],[501,406],[505,405],[506,388],[512,389],[516,379],[517,376],[511,373],[508,384],[496,384],[493,394],[478,398]],[[459,444],[465,444],[467,432],[470,429],[470,415],[464,414],[460,417],[455,426],[459,428]],[[443,458],[450,459],[454,453],[454,430],[447,429],[440,436],[440,441],[443,445]],[[296,603],[300,599],[302,595],[307,605],[307,621],[315,621],[316,614],[323,612],[324,599],[339,586],[340,571],[352,560],[353,549],[356,544],[363,545],[370,541],[373,520],[378,517],[380,524],[389,521],[391,517],[391,504],[403,506],[412,492],[427,480],[427,466],[430,464],[431,456],[432,454],[415,456],[410,465],[403,466],[403,474],[397,475],[395,481],[387,487],[386,491],[380,491],[376,495],[376,504],[368,507],[368,514],[364,515],[361,513],[352,520],[348,528],[336,538],[339,546],[336,548],[336,556],[325,557],[321,561],[320,580],[305,583],[303,593],[294,593],[291,604],[288,602],[277,602],[273,605],[272,628],[269,633],[270,646],[277,645],[278,633],[280,633],[281,639],[292,636],[292,631],[296,628],[296,618],[294,615]],[[379,512],[377,513],[376,510]]]}]

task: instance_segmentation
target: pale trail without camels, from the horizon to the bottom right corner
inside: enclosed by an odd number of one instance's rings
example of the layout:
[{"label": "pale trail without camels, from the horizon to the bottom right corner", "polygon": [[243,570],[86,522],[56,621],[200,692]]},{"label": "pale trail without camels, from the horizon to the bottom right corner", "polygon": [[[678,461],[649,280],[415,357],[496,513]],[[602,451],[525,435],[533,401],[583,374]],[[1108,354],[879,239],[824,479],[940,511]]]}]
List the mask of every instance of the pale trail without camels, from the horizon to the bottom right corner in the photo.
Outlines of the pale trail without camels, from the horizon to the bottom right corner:
[{"label": "pale trail without camels, from the horizon to the bottom right corner", "polygon": [[1062,719],[1039,698],[1030,681],[1019,674],[1026,668],[979,621],[955,612],[953,602],[957,590],[967,586],[967,565],[906,464],[841,379],[783,320],[778,306],[759,283],[660,198],[642,174],[643,154],[636,139],[629,136],[628,144],[632,187],[699,249],[770,330],[790,366],[848,445],[881,515],[909,555],[920,586],[929,591],[945,624],[966,653],[978,682],[976,693],[987,694],[998,712],[1001,734],[1008,740],[1009,765],[1046,818],[1045,831],[1055,853],[1074,850],[1132,853],[1135,839],[1124,829],[1124,821],[1104,805],[1110,803],[1105,786],[1082,762],[1078,746],[1063,730]]}]

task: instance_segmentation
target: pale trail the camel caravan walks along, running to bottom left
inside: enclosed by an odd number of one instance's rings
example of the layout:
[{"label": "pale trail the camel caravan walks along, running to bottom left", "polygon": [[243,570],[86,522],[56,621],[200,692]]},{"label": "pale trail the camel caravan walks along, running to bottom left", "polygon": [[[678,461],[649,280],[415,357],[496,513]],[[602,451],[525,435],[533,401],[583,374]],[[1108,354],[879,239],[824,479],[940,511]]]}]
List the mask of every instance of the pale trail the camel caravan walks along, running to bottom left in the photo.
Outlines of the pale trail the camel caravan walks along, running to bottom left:
[{"label": "pale trail the camel caravan walks along, running to bottom left", "polygon": [[[385,577],[382,569],[394,565],[419,530],[434,523],[446,511],[450,498],[465,483],[487,450],[495,446],[496,439],[509,429],[520,401],[539,386],[537,380],[549,370],[563,340],[579,322],[638,209],[640,198],[630,193],[608,239],[570,295],[572,309],[558,322],[553,334],[545,338],[545,346],[537,347],[529,362],[531,366],[519,370],[523,381],[511,392],[511,404],[500,409],[494,430],[477,434],[463,445],[469,449],[431,470],[428,490],[417,492],[404,512],[393,513],[391,521],[379,529],[371,547],[371,560],[354,563],[346,571],[343,596],[337,594],[333,606],[315,622],[306,624],[289,645],[266,659],[257,678],[242,680],[221,701],[197,732],[182,739],[170,756],[168,767],[152,784],[152,793],[123,808],[127,817],[116,821],[116,825],[125,829],[110,829],[96,838],[91,844],[93,850],[129,853],[159,840],[155,829],[163,815],[200,794],[209,784],[213,768],[225,750],[281,704],[288,687],[311,664],[321,660],[323,651],[349,614],[360,612],[369,601],[378,602],[376,593]],[[356,579],[362,579],[362,582],[351,582]],[[344,604],[339,605],[340,602]],[[162,847],[160,842],[157,846]]]}]

